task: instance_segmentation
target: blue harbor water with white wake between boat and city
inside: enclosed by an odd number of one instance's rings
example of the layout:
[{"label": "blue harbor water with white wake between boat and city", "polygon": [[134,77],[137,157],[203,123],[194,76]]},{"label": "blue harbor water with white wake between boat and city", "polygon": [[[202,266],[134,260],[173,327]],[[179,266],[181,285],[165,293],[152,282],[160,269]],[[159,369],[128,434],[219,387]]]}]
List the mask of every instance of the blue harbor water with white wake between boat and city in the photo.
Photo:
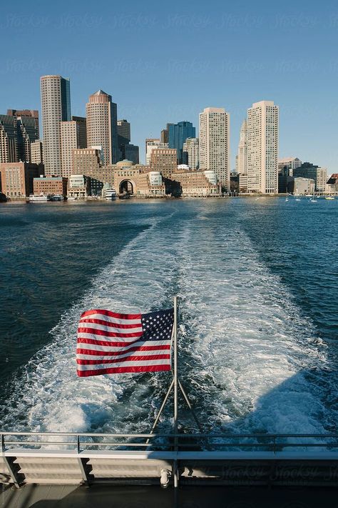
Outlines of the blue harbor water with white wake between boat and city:
[{"label": "blue harbor water with white wake between boat and city", "polygon": [[334,430],[337,216],[338,199],[1,205],[3,427],[148,429],[170,374],[77,378],[78,317],[179,294],[180,377],[206,430]]}]

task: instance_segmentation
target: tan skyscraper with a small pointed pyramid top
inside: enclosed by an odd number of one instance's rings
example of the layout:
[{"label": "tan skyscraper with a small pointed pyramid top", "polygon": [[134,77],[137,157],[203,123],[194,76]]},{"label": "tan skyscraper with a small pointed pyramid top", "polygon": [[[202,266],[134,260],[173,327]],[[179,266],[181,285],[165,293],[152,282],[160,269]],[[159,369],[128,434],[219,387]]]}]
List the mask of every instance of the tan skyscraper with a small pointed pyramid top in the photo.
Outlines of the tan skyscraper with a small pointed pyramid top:
[{"label": "tan skyscraper with a small pointed pyramid top", "polygon": [[104,164],[118,161],[117,105],[103,90],[89,97],[87,111],[87,144],[101,146]]}]

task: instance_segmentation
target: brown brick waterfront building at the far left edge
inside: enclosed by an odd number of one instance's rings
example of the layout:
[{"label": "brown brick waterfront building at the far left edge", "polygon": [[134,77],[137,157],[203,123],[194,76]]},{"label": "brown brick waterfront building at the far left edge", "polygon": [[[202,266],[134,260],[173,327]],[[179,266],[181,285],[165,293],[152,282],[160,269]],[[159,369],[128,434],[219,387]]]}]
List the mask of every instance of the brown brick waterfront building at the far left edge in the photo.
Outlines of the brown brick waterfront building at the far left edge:
[{"label": "brown brick waterfront building at the far left edge", "polygon": [[1,191],[11,199],[22,199],[33,193],[33,179],[43,174],[43,164],[9,162],[0,164]]}]

